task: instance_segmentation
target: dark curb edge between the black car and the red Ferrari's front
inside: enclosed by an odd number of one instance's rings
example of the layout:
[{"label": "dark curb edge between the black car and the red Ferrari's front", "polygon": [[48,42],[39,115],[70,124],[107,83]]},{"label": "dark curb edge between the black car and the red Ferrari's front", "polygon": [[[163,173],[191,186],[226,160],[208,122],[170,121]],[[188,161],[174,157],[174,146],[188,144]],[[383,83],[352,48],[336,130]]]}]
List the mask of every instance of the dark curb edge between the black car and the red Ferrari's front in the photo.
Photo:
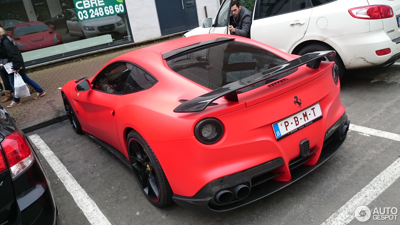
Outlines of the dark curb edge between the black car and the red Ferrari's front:
[{"label": "dark curb edge between the black car and the red Ferrari's front", "polygon": [[47,127],[49,125],[59,123],[61,121],[68,120],[66,112],[56,112],[53,115],[48,115],[40,119],[18,125],[18,127],[24,132],[29,133],[31,131],[36,131],[40,128]]}]

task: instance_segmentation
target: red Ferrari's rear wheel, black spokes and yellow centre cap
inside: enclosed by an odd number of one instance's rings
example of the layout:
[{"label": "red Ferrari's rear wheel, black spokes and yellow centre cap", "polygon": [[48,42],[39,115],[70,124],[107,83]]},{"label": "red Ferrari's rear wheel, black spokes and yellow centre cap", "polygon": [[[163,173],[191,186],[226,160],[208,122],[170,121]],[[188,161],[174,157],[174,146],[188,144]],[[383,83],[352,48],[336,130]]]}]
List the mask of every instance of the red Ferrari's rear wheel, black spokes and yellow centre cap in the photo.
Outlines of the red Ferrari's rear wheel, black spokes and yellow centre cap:
[{"label": "red Ferrari's rear wheel, black spokes and yellow centre cap", "polygon": [[156,155],[136,131],[130,131],[126,139],[129,160],[147,199],[157,207],[172,203],[172,189]]}]

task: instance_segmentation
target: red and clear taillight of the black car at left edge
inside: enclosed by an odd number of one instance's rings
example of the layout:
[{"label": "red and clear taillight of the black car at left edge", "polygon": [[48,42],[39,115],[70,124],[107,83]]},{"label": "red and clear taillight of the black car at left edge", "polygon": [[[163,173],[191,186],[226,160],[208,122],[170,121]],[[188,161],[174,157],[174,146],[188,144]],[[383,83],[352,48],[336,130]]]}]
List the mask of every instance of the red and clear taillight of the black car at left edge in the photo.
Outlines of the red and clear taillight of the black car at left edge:
[{"label": "red and clear taillight of the black car at left edge", "polygon": [[2,142],[6,159],[10,166],[11,176],[14,179],[34,161],[32,152],[24,137],[18,131],[7,135]]}]

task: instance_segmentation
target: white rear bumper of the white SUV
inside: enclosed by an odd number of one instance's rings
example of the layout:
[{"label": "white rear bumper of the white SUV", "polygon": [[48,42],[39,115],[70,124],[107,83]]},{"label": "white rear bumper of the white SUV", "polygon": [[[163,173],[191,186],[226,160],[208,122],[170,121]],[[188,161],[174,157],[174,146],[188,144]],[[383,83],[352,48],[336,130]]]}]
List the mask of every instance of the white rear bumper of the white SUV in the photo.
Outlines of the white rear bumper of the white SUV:
[{"label": "white rear bumper of the white SUV", "polygon": [[[387,66],[400,58],[400,40],[390,38],[383,29],[328,38],[324,40],[340,54],[347,69]],[[375,51],[390,48],[391,53],[378,56]]]}]

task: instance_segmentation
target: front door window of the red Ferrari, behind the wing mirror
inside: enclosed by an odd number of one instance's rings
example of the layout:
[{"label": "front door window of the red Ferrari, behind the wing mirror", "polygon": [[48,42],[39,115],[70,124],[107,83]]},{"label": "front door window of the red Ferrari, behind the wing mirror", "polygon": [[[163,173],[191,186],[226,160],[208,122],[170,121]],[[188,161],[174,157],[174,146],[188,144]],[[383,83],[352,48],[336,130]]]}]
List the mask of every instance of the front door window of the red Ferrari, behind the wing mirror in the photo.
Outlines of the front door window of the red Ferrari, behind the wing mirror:
[{"label": "front door window of the red Ferrari, behind the wing mirror", "polygon": [[133,67],[132,64],[126,62],[117,62],[107,66],[93,80],[93,88],[110,94],[122,94]]}]

